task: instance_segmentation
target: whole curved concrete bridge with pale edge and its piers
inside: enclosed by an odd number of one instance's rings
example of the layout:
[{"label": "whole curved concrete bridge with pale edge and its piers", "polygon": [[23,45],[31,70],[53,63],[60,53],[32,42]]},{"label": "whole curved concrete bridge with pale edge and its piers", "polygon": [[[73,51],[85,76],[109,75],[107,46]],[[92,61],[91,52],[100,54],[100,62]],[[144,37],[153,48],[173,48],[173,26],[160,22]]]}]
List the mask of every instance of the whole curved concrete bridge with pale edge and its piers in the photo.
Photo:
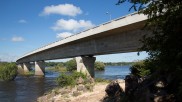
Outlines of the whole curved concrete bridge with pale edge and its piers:
[{"label": "whole curved concrete bridge with pale edge and its piers", "polygon": [[35,62],[35,75],[44,75],[45,60],[76,57],[77,71],[94,77],[94,55],[138,51],[142,36],[151,34],[142,30],[146,20],[143,14],[129,14],[38,48],[16,62],[24,71],[29,71],[30,62]]}]

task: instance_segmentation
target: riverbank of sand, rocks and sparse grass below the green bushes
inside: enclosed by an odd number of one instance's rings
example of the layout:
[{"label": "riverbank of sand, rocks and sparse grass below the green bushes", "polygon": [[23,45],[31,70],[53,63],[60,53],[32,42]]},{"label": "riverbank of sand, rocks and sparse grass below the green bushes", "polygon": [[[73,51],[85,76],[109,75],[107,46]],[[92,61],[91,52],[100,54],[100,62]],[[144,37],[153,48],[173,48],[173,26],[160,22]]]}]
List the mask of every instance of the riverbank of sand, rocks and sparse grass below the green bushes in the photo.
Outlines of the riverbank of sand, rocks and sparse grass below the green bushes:
[{"label": "riverbank of sand, rocks and sparse grass below the green bushes", "polygon": [[[118,80],[120,87],[125,89],[125,81]],[[76,93],[78,87],[53,89],[50,93],[37,99],[38,102],[100,102],[106,95],[105,89],[109,83],[95,83],[90,91]]]}]

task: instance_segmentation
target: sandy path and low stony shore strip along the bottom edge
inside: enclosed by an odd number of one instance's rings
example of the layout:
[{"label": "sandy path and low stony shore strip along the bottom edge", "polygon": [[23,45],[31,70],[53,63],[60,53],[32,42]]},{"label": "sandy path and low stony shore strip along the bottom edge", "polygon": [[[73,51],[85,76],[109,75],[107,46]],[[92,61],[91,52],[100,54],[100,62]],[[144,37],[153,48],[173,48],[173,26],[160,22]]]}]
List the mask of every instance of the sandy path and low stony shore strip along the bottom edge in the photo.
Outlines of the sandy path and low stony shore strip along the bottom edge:
[{"label": "sandy path and low stony shore strip along the bottom edge", "polygon": [[[125,81],[120,80],[118,81],[120,87],[124,90],[125,89]],[[102,99],[105,97],[106,92],[106,86],[109,83],[97,83],[92,92],[84,92],[81,95],[78,96],[67,96],[63,97],[61,94],[58,94],[56,96],[42,96],[38,98],[38,102],[101,102]]]}]

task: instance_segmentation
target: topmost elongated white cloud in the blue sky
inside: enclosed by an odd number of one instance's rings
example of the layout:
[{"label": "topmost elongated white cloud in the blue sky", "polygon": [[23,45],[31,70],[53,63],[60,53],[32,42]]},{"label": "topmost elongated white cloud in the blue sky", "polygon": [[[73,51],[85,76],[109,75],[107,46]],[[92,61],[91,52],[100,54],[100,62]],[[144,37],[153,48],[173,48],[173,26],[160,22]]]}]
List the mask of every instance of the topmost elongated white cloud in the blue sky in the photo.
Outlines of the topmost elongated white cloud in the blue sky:
[{"label": "topmost elongated white cloud in the blue sky", "polygon": [[41,15],[60,14],[65,16],[76,16],[81,13],[82,10],[73,4],[60,4],[46,6]]}]

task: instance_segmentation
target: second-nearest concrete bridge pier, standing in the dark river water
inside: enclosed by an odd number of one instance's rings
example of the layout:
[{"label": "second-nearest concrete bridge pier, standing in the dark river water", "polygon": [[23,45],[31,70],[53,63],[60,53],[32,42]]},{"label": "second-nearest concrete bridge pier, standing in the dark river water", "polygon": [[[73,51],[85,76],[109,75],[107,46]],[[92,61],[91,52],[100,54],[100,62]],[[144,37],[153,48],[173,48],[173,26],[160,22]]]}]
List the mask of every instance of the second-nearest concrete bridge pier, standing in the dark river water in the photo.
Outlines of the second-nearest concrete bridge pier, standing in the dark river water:
[{"label": "second-nearest concrete bridge pier, standing in the dark river water", "polygon": [[36,61],[35,62],[35,75],[44,75],[45,73],[45,62]]}]

